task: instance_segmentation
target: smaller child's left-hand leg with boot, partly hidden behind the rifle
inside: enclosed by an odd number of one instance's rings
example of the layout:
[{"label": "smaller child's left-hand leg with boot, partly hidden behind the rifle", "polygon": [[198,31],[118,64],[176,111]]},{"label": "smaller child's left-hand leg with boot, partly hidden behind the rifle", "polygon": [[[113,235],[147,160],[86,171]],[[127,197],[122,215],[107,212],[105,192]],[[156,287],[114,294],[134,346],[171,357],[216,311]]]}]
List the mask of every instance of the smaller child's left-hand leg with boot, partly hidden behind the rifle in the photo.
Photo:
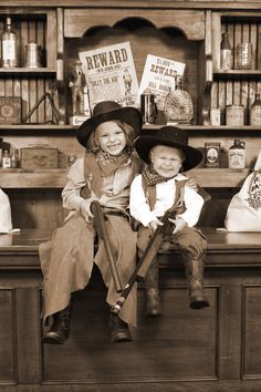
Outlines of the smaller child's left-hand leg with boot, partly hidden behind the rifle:
[{"label": "smaller child's left-hand leg with boot, partly hidden behind the rifle", "polygon": [[[142,257],[149,239],[153,235],[153,230],[147,227],[143,227],[138,231],[137,247],[138,256]],[[158,262],[157,259],[154,260],[152,267],[149,268],[145,279],[145,290],[147,297],[145,314],[147,317],[161,316],[161,300],[158,287]]]}]

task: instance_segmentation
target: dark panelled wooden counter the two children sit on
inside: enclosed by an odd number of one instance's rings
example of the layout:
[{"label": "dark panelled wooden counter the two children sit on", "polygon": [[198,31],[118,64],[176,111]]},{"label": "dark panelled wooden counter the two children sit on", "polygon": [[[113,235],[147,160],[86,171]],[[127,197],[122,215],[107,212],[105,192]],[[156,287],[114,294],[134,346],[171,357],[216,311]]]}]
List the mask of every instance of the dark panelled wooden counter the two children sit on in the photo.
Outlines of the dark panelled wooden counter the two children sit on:
[{"label": "dark panelled wooden counter the two children sit on", "polygon": [[50,233],[1,235],[0,390],[260,391],[261,236],[205,231],[210,308],[189,309],[180,255],[161,254],[164,317],[144,317],[139,283],[134,341],[112,344],[106,290],[95,269],[88,288],[73,297],[71,337],[61,347],[41,344],[38,247]]}]

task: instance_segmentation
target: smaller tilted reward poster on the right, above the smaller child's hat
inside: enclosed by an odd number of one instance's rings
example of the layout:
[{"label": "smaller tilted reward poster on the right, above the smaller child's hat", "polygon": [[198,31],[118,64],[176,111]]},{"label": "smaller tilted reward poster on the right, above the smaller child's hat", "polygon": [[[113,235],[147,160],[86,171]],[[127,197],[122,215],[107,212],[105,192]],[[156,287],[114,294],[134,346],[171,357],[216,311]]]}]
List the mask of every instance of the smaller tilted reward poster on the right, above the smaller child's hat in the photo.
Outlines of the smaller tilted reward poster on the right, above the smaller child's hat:
[{"label": "smaller tilted reward poster on the right, above the smaller child's hat", "polygon": [[156,96],[157,109],[164,110],[169,89],[175,90],[177,79],[182,78],[185,63],[148,54],[138,90],[137,104],[146,91]]}]

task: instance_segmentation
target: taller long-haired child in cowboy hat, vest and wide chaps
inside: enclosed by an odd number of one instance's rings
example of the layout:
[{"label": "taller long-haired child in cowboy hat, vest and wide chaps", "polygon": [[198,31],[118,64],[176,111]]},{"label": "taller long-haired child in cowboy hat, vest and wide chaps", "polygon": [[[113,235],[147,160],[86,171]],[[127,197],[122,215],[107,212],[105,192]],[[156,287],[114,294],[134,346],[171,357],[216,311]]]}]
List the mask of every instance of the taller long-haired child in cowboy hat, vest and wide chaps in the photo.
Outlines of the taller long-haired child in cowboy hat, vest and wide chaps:
[{"label": "taller long-haired child in cowboy hat, vest and wide chaps", "polygon": [[[62,192],[63,206],[70,210],[63,227],[51,241],[40,246],[44,276],[43,322],[52,316],[52,327],[44,343],[63,343],[70,333],[71,293],[85,288],[95,262],[107,287],[108,305],[117,293],[114,288],[104,246],[98,245],[91,203],[98,200],[107,216],[107,231],[121,282],[124,287],[136,264],[136,234],[126,213],[132,179],[138,173],[133,157],[134,138],[142,127],[142,116],[134,107],[122,107],[104,101],[95,105],[93,116],[77,131],[77,141],[86,148],[83,158],[72,165]],[[124,244],[123,244],[124,243]],[[136,287],[118,316],[111,314],[112,342],[129,341],[128,324],[136,326]]]}]

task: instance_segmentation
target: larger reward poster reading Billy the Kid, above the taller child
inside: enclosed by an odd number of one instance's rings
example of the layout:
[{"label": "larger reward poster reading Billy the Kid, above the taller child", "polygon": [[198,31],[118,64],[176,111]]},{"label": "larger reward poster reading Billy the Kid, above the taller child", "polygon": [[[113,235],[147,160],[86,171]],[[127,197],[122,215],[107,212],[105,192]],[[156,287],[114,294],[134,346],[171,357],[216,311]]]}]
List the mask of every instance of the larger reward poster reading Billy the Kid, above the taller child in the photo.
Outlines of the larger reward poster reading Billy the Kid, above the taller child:
[{"label": "larger reward poster reading Billy the Kid, above the taller child", "polygon": [[80,52],[85,73],[90,102],[112,100],[122,106],[135,105],[138,81],[129,42]]}]

